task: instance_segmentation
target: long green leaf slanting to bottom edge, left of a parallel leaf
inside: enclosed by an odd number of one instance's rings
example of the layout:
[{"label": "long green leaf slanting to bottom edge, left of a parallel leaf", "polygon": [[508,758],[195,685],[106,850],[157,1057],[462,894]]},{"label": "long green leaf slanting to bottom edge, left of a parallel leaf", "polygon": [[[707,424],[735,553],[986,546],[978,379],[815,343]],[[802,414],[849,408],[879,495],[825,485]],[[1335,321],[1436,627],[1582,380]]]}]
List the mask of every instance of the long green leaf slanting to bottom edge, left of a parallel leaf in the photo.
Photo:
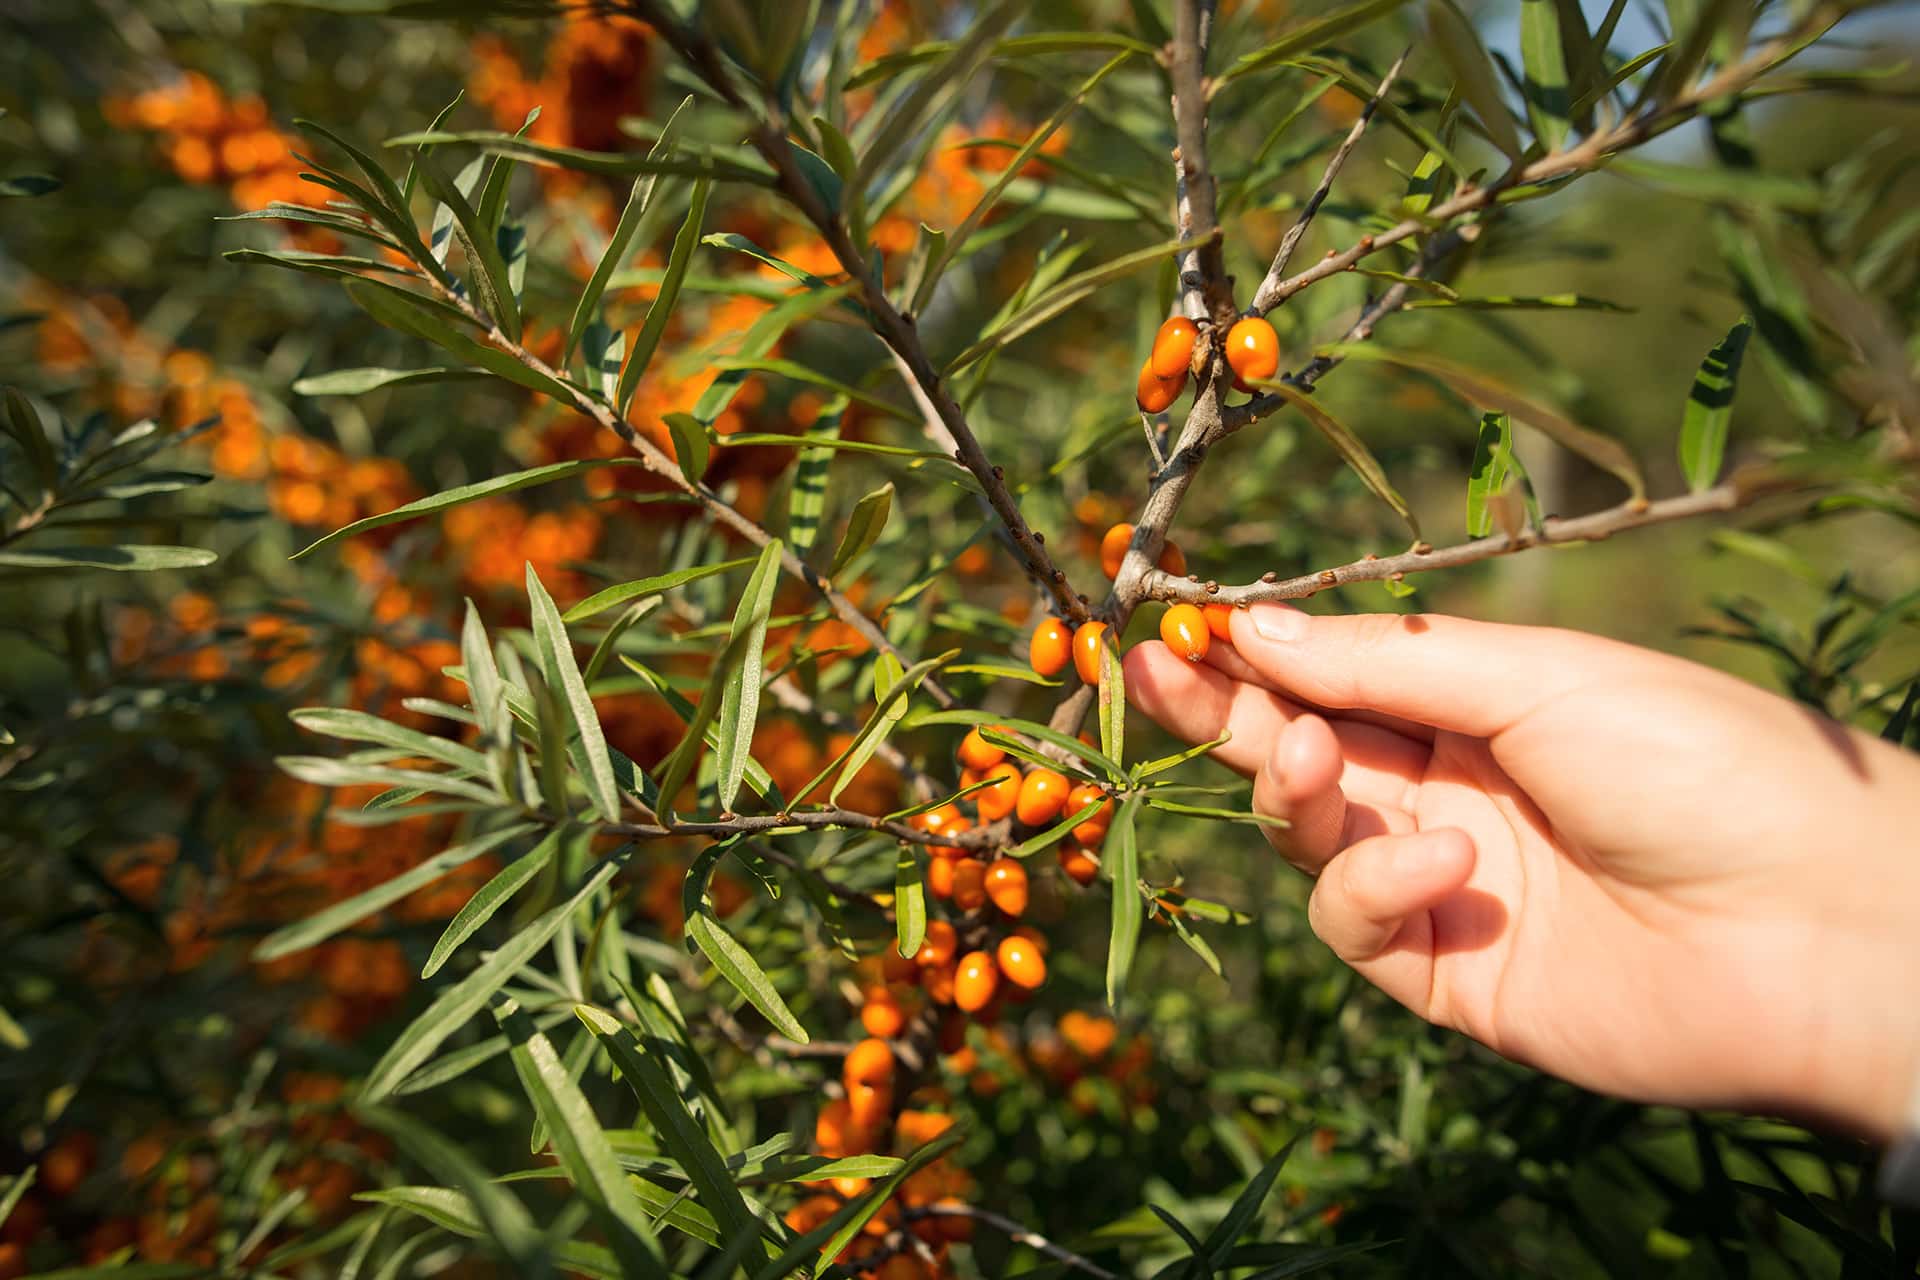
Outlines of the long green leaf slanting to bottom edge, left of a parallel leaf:
[{"label": "long green leaf slanting to bottom edge, left of a parallel leaf", "polygon": [[534,1029],[526,1013],[507,1000],[493,1009],[501,1031],[513,1040],[513,1069],[553,1138],[553,1153],[566,1171],[574,1192],[588,1203],[593,1221],[620,1259],[620,1272],[666,1276],[647,1209],[634,1196],[620,1161],[607,1144],[593,1107],[561,1065],[553,1042]]}]

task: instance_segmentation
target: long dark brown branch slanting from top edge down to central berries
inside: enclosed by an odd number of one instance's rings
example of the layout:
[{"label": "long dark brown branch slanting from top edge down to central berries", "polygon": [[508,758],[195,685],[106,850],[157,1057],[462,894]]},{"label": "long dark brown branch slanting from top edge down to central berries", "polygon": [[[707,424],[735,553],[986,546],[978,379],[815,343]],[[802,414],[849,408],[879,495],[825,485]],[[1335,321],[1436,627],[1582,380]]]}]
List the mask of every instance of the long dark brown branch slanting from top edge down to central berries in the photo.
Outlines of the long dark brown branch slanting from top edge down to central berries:
[{"label": "long dark brown branch slanting from top edge down to central berries", "polygon": [[987,493],[987,503],[993,507],[995,514],[1000,516],[1008,535],[1014,539],[1014,547],[1023,560],[1023,568],[1035,578],[1035,581],[1052,593],[1060,610],[1068,618],[1083,622],[1089,616],[1087,606],[1073,593],[1066,572],[1054,568],[1052,557],[1046,555],[1046,539],[1033,532],[1027,526],[1025,516],[1020,514],[1020,505],[1006,487],[1000,468],[996,468],[987,457],[987,451],[981,449],[979,438],[975,438],[973,428],[968,426],[966,413],[947,391],[947,384],[939,370],[933,368],[933,361],[927,357],[925,347],[920,342],[920,334],[914,328],[914,319],[902,315],[893,305],[893,299],[889,299],[885,288],[881,288],[879,273],[872,269],[866,255],[847,234],[845,221],[837,211],[828,209],[822,203],[820,194],[801,171],[801,165],[793,155],[793,146],[787,142],[787,136],[780,127],[780,119],[768,119],[747,102],[747,98],[733,86],[733,77],[728,73],[726,61],[703,33],[676,21],[657,0],[628,2],[630,8],[634,8],[655,31],[660,33],[662,38],[666,38],[668,44],[674,46],[674,50],[701,75],[701,79],[707,81],[714,92],[755,117],[751,138],[755,150],[758,150],[760,155],[774,167],[776,182],[781,194],[806,217],[808,223],[814,225],[814,230],[818,230],[828,242],[828,248],[833,251],[841,269],[860,286],[860,297],[872,315],[874,332],[906,365],[914,382],[933,405],[941,426],[945,426],[954,438],[954,461],[973,472],[973,478]]}]

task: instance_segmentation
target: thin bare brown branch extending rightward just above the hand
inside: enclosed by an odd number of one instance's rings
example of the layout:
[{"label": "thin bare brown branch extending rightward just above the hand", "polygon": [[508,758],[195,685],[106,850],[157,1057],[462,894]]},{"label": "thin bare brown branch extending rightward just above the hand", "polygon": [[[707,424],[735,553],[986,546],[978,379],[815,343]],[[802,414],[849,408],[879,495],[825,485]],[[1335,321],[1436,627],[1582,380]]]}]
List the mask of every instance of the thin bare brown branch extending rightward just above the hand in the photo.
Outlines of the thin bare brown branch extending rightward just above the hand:
[{"label": "thin bare brown branch extending rightward just above the hand", "polygon": [[1300,578],[1277,578],[1275,574],[1267,574],[1260,581],[1250,581],[1238,587],[1223,587],[1212,581],[1196,583],[1154,570],[1142,581],[1142,591],[1154,601],[1187,601],[1190,604],[1302,601],[1309,595],[1327,591],[1329,587],[1344,587],[1356,581],[1400,581],[1407,574],[1423,574],[1434,568],[1457,568],[1461,564],[1475,564],[1478,560],[1513,555],[1515,551],[1526,551],[1528,547],[1592,543],[1649,524],[1667,524],[1670,520],[1688,520],[1692,516],[1711,512],[1740,510],[1763,493],[1778,493],[1784,487],[1789,486],[1768,484],[1764,478],[1734,478],[1713,489],[1684,493],[1680,497],[1665,497],[1657,503],[1630,499],[1619,507],[1596,510],[1586,516],[1572,516],[1567,520],[1548,516],[1538,530],[1496,533],[1492,537],[1478,537],[1475,541],[1438,549],[1419,543],[1413,551],[1405,551],[1396,557],[1382,558],[1369,555],[1361,560],[1354,560],[1352,564],[1323,568],[1317,574],[1302,574]]}]

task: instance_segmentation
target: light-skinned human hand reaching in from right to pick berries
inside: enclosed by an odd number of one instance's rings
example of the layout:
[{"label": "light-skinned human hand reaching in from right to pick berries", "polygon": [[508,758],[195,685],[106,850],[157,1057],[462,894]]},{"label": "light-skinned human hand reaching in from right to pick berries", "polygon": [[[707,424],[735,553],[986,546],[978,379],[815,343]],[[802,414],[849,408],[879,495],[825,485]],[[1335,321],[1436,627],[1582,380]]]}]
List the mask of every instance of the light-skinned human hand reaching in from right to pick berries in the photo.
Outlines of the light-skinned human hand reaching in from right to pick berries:
[{"label": "light-skinned human hand reaching in from right to pick berries", "polygon": [[1889,1138],[1920,1075],[1920,760],[1732,676],[1548,628],[1233,614],[1129,700],[1254,779],[1313,931],[1576,1084]]}]

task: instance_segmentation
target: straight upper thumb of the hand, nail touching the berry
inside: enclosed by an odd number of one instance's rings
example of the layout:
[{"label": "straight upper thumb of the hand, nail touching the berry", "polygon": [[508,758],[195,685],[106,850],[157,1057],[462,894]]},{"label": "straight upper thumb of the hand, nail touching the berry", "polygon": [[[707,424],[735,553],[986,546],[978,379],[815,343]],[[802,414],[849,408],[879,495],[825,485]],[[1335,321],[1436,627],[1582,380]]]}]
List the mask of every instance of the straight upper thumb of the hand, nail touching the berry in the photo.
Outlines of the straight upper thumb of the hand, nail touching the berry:
[{"label": "straight upper thumb of the hand, nail touching the berry", "polygon": [[[1233,647],[1279,693],[1329,710],[1371,710],[1492,737],[1588,683],[1622,649],[1555,628],[1442,614],[1233,610]],[[1628,651],[1632,652],[1632,651]]]}]

